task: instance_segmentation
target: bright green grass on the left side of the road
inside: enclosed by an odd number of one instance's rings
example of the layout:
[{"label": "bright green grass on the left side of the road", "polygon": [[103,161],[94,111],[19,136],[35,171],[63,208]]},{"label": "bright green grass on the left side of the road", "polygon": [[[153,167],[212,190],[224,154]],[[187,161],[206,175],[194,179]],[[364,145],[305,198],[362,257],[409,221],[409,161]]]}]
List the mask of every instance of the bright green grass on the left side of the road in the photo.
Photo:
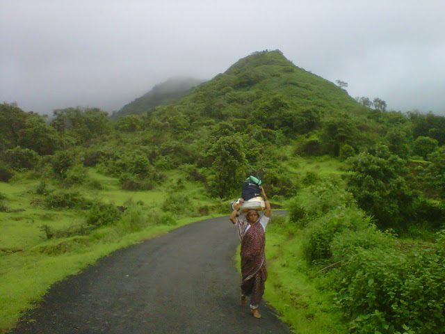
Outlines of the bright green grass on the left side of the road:
[{"label": "bright green grass on the left side of the road", "polygon": [[[93,169],[89,170],[88,175],[101,182],[104,189],[74,186],[66,190],[79,191],[85,198],[115,205],[127,206],[142,201],[152,211],[160,212],[159,207],[168,195],[165,189],[171,189],[170,186],[163,185],[163,188],[155,188],[153,191],[122,191],[116,178],[106,177]],[[168,178],[165,183],[175,184],[179,176],[177,173],[170,176],[172,180]],[[86,211],[45,208],[42,205],[43,196],[35,193],[39,184],[40,180],[24,178],[9,184],[0,182],[0,193],[6,195],[1,202],[9,211],[0,212],[0,333],[5,333],[14,326],[23,312],[33,308],[35,302],[58,280],[79,273],[113,250],[157,237],[181,225],[209,218],[182,218],[177,219],[176,225],[148,225],[136,232],[131,232],[131,228],[118,223],[99,228],[85,236],[47,239],[42,225],[67,230],[84,223]],[[47,187],[50,190],[59,189],[58,184],[51,180],[47,182]],[[195,202],[200,200],[199,190],[193,184],[185,182],[182,190],[187,196],[195,198]],[[11,210],[16,212],[10,212]]]}]

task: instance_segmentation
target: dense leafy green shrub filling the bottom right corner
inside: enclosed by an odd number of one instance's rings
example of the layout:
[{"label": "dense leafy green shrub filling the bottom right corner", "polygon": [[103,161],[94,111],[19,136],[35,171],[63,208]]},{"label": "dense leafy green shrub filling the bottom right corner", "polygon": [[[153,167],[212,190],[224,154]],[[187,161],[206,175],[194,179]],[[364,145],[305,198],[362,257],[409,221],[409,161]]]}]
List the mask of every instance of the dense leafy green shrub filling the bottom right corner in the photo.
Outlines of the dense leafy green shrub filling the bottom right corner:
[{"label": "dense leafy green shrub filling the bottom right corner", "polygon": [[332,276],[351,332],[444,333],[444,259],[439,246],[357,251]]}]

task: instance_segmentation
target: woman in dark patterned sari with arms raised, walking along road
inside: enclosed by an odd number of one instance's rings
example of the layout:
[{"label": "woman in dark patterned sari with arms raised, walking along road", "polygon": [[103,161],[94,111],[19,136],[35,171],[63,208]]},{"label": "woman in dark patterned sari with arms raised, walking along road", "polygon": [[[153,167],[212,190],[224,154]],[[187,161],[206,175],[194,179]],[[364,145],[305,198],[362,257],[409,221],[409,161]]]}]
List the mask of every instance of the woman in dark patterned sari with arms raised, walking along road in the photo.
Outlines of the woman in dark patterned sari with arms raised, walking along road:
[{"label": "woman in dark patterned sari with arms raised, walking along road", "polygon": [[236,218],[238,212],[234,210],[229,219],[238,226],[238,232],[241,239],[241,305],[245,305],[246,296],[250,296],[250,310],[256,318],[261,318],[258,312],[258,305],[264,294],[264,283],[267,279],[266,254],[266,235],[264,231],[269,222],[270,203],[260,187],[261,196],[266,204],[266,212],[261,218],[257,210],[250,210],[246,214],[246,221],[240,221]]}]

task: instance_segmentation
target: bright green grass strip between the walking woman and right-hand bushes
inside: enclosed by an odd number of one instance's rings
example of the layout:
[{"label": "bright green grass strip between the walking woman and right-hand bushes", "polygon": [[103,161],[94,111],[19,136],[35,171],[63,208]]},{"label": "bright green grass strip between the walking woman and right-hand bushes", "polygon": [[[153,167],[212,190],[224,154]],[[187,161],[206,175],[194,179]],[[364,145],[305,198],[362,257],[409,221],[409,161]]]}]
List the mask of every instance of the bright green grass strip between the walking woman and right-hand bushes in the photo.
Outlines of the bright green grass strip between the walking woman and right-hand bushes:
[{"label": "bright green grass strip between the walking woman and right-hand bushes", "polygon": [[266,232],[268,280],[264,299],[280,313],[293,333],[347,333],[341,314],[332,305],[330,292],[317,289],[307,275],[300,239],[286,239],[270,227]]}]

